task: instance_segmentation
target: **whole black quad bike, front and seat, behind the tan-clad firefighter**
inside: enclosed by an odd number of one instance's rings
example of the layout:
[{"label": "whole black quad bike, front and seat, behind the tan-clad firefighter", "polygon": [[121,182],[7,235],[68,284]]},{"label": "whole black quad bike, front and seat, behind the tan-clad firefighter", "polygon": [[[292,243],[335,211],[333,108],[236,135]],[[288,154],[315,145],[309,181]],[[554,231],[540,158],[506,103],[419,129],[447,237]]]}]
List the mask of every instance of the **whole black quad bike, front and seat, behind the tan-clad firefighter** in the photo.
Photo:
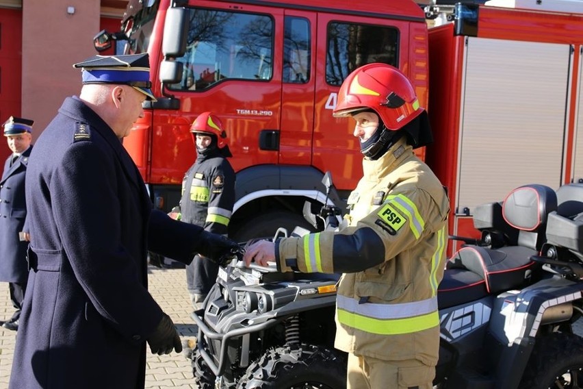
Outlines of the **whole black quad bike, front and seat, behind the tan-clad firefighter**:
[{"label": "whole black quad bike, front and seat, behind the tan-clad firefighter", "polygon": [[[320,219],[338,213],[324,207]],[[583,388],[572,327],[583,314],[583,185],[517,188],[476,208],[474,225],[482,238],[451,237],[465,244],[439,286],[435,388]],[[233,260],[193,315],[196,384],[346,388],[346,355],[333,347],[337,278]]]}]

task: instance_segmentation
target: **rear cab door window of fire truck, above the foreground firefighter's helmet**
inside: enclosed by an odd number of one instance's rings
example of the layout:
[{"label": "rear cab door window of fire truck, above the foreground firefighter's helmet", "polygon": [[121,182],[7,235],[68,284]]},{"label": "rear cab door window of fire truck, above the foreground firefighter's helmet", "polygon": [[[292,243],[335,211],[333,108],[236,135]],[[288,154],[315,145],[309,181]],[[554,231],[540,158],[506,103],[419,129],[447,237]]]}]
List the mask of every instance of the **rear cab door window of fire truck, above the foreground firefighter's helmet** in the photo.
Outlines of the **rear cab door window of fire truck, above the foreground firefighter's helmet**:
[{"label": "rear cab door window of fire truck, above the foreground firefighter's helmet", "polygon": [[340,86],[355,68],[372,62],[398,66],[397,30],[374,25],[330,23],[326,82]]}]

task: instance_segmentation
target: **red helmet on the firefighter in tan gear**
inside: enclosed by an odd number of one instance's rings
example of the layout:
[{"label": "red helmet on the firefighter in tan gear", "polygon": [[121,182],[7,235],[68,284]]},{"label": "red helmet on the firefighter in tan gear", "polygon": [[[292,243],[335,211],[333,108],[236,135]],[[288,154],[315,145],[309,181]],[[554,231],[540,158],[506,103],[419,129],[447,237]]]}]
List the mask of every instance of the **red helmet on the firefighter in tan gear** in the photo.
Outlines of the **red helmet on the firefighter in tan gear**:
[{"label": "red helmet on the firefighter in tan gear", "polygon": [[398,68],[380,63],[361,66],[346,77],[333,116],[351,116],[366,109],[374,110],[392,130],[400,129],[424,111],[411,81]]}]

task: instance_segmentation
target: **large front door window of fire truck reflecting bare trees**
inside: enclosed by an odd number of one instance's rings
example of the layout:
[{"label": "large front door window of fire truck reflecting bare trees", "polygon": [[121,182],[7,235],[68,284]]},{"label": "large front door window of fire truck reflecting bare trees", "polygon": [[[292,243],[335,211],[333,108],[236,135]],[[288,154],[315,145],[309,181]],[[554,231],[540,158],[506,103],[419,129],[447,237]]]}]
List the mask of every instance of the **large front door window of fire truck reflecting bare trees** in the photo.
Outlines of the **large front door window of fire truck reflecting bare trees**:
[{"label": "large front door window of fire truck reflecting bare trees", "polygon": [[273,69],[270,16],[190,9],[181,82],[171,90],[205,90],[224,79],[268,80]]}]

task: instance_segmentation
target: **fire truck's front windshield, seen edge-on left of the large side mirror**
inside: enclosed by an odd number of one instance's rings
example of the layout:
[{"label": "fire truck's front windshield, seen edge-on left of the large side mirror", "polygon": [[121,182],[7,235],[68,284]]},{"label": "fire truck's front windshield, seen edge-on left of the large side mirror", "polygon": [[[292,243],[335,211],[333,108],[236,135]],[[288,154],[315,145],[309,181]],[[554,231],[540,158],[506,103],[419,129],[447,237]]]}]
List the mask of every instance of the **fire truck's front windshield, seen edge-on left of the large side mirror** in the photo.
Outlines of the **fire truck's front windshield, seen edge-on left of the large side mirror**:
[{"label": "fire truck's front windshield, seen edge-on left of the large side mirror", "polygon": [[[122,32],[127,36],[125,54],[140,54],[148,51],[159,1],[150,1],[150,3],[149,7],[144,5],[139,8],[131,7],[131,2],[128,5],[122,22]],[[133,8],[133,14],[128,14],[131,8]]]}]

